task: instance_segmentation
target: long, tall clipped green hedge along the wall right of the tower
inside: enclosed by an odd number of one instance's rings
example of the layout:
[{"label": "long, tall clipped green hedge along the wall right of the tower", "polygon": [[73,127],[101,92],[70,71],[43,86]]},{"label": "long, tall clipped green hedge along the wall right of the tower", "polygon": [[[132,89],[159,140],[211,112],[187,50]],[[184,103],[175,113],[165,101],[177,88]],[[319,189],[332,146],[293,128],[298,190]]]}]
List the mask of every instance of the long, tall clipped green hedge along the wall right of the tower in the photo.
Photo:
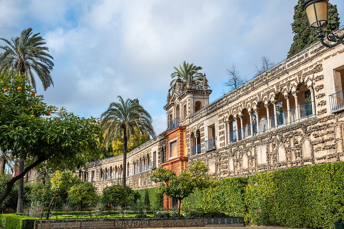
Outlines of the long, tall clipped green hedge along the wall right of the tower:
[{"label": "long, tall clipped green hedge along the wall right of the tower", "polygon": [[243,216],[252,225],[333,228],[344,219],[344,162],[221,179],[182,206]]}]

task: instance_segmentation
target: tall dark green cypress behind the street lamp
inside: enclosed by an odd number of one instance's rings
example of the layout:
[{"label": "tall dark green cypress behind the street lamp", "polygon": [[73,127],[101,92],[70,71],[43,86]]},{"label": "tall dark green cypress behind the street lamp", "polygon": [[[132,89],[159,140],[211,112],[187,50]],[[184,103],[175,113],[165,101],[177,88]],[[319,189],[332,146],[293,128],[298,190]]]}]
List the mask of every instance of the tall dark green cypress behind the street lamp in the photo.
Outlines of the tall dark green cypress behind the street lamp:
[{"label": "tall dark green cypress behind the street lamp", "polygon": [[[298,4],[294,7],[294,22],[291,24],[291,29],[293,31],[294,38],[293,43],[290,46],[288,52],[288,57],[300,52],[303,48],[307,47],[314,41],[318,40],[316,36],[315,29],[309,27],[309,22],[307,18],[306,11],[302,8],[302,1],[299,0]],[[332,5],[330,2],[327,5],[327,21],[328,24],[325,25],[323,33],[327,33],[339,28],[339,14],[337,11],[337,5]]]}]

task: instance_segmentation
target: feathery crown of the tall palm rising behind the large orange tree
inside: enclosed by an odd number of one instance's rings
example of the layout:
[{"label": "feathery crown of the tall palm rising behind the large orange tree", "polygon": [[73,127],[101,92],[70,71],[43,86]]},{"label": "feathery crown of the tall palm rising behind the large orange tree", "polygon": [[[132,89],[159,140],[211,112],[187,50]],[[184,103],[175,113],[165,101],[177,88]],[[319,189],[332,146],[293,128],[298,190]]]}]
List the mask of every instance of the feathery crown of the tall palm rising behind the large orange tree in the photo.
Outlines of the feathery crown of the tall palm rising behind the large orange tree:
[{"label": "feathery crown of the tall palm rising behind the large orange tree", "polygon": [[33,72],[37,74],[46,90],[50,85],[54,86],[50,76],[53,69],[54,59],[49,54],[49,48],[43,46],[45,40],[39,36],[40,33],[32,35],[32,28],[21,32],[20,37],[10,40],[0,38],[8,45],[0,45],[3,53],[0,53],[0,73],[14,70],[19,75],[23,75],[26,81],[36,89],[36,80]]}]

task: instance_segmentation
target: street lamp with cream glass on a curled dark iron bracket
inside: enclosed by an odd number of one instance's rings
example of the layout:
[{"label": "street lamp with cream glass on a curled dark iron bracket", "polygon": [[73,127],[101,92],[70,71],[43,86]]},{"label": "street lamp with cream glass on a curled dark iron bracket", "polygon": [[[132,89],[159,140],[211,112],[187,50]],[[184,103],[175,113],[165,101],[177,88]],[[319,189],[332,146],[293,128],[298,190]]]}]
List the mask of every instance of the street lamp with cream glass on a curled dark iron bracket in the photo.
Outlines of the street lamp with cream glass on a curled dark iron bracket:
[{"label": "street lamp with cream glass on a curled dark iron bracket", "polygon": [[318,39],[325,47],[332,48],[338,44],[344,44],[343,36],[334,35],[332,32],[326,35],[326,39],[334,44],[326,44],[324,42],[322,26],[327,24],[327,3],[329,0],[304,0],[303,9],[306,11],[311,28],[315,28],[318,32]]}]

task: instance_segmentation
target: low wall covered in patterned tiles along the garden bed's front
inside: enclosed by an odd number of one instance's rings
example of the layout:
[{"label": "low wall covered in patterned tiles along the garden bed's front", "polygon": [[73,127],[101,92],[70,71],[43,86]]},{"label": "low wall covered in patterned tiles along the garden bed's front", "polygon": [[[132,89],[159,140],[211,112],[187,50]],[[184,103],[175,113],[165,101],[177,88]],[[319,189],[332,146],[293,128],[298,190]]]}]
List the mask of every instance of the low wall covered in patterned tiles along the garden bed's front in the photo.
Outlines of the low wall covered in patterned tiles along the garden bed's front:
[{"label": "low wall covered in patterned tiles along the garden bed's front", "polygon": [[243,217],[162,218],[162,219],[60,219],[37,220],[35,229],[129,229],[158,227],[234,227],[244,226]]}]

